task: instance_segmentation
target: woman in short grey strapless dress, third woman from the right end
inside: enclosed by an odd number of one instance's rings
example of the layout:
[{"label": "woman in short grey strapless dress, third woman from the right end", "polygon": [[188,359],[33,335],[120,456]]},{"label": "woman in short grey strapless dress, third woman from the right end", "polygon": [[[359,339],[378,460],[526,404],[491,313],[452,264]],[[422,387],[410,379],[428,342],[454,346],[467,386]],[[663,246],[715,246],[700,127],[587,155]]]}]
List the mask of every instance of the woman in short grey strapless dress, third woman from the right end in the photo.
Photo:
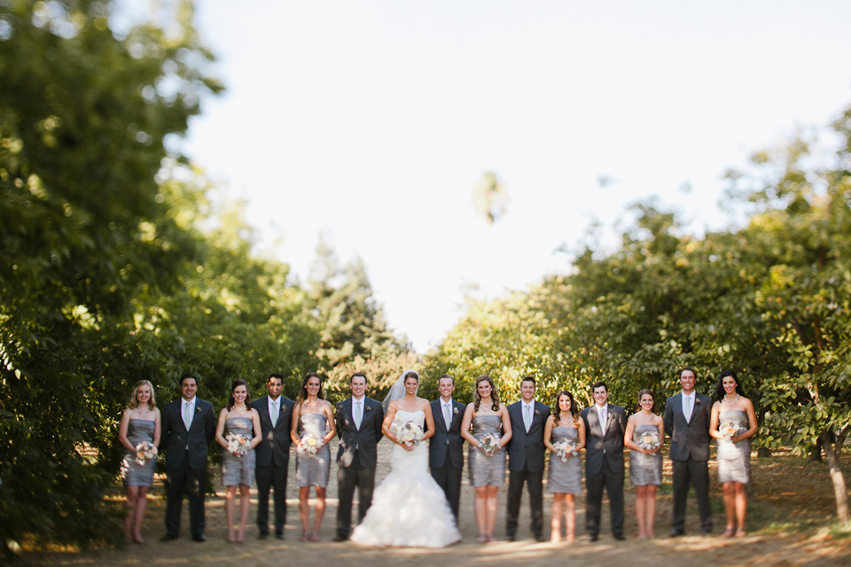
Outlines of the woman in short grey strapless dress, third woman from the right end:
[{"label": "woman in short grey strapless dress, third woman from the right end", "polygon": [[[582,468],[579,451],[585,447],[585,422],[579,419],[573,394],[558,392],[556,410],[547,418],[543,430],[543,444],[550,449],[550,468],[547,473],[547,492],[553,494],[550,541],[561,541],[561,515],[564,509],[566,541],[576,537],[575,495],[582,492]],[[555,444],[561,439],[574,443],[573,452],[562,462]]]}]

